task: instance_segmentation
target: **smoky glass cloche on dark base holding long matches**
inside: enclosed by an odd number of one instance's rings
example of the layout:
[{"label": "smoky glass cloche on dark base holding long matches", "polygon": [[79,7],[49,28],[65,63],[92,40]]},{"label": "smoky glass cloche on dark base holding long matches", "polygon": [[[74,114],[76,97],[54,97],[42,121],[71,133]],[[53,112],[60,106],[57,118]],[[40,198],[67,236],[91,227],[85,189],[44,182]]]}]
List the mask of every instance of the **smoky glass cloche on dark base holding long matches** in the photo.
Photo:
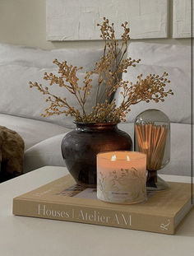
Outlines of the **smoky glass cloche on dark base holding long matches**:
[{"label": "smoky glass cloche on dark base holding long matches", "polygon": [[135,120],[135,151],[146,154],[148,190],[168,189],[169,185],[157,176],[157,171],[170,161],[170,121],[158,109],[148,109]]}]

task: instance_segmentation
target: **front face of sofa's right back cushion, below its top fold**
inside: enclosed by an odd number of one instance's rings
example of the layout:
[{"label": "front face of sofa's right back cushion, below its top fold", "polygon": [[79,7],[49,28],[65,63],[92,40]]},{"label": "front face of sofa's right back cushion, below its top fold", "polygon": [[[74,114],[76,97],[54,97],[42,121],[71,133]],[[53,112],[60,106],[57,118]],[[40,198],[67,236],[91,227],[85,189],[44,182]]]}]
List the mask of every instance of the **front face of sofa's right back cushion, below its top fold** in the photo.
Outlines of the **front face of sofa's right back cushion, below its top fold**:
[{"label": "front face of sofa's right back cushion, below its top fold", "polygon": [[[140,102],[131,106],[131,111],[127,114],[127,122],[133,123],[136,116],[146,109],[159,109],[169,116],[171,122],[174,123],[191,123],[191,77],[190,71],[181,69],[180,67],[162,67],[153,65],[138,64],[136,67],[131,68],[129,72],[122,75],[124,81],[137,81],[137,76],[143,74],[146,75],[159,74],[163,72],[169,73],[169,80],[171,83],[165,87],[165,90],[172,89],[174,95],[168,95],[164,98],[164,102],[150,103]],[[119,88],[114,95],[116,103],[119,106],[122,102],[122,88]]]}]

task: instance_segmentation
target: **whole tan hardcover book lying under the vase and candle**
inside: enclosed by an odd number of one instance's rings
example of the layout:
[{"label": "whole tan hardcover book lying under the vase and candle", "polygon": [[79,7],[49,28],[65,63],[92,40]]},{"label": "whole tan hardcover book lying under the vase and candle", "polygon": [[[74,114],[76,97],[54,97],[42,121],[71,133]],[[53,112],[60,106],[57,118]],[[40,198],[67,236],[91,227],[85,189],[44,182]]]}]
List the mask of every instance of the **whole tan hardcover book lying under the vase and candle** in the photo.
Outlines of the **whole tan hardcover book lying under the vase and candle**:
[{"label": "whole tan hardcover book lying under the vase and candle", "polygon": [[149,193],[146,202],[122,205],[99,201],[96,189],[66,175],[14,198],[13,214],[173,235],[192,208],[192,195],[191,184],[169,185],[169,190]]}]

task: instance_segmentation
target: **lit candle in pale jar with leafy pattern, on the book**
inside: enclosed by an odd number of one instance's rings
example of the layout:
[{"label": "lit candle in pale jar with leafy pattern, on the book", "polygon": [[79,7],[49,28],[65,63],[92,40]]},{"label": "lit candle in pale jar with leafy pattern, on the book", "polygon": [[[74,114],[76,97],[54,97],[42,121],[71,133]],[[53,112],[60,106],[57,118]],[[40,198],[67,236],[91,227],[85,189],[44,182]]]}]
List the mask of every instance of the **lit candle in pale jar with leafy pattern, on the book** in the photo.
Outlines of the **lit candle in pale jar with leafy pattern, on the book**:
[{"label": "lit candle in pale jar with leafy pattern, on the book", "polygon": [[109,151],[97,155],[97,198],[131,204],[146,200],[146,154]]}]

